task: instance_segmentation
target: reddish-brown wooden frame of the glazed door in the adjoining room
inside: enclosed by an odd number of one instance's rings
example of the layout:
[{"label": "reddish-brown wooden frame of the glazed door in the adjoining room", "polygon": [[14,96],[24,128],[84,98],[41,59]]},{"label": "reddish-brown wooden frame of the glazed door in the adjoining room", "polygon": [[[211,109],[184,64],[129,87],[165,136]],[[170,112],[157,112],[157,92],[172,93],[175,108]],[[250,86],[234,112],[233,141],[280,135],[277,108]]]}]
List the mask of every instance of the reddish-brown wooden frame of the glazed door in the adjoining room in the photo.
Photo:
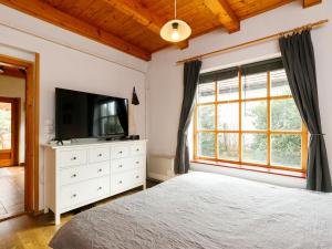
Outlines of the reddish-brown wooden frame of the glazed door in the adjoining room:
[{"label": "reddish-brown wooden frame of the glazed door in the adjoining room", "polygon": [[[1,93],[0,93],[1,94]],[[20,121],[21,121],[21,105],[20,97],[7,97],[0,95],[0,102],[11,103],[11,148],[4,151],[11,151],[12,158],[11,159],[0,159],[0,162],[4,165],[0,165],[1,167],[14,166],[19,165],[19,139],[20,139]]]}]

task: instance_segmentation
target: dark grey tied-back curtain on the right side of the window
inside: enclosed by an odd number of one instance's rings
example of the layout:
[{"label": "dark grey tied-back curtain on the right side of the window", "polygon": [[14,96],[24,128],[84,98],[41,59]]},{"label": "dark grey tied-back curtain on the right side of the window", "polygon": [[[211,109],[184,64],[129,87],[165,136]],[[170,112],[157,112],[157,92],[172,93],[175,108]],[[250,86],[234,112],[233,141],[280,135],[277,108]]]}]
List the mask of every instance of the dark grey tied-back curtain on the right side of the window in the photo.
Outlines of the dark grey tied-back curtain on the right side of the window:
[{"label": "dark grey tied-back curtain on the right side of the window", "polygon": [[310,136],[307,188],[331,191],[331,175],[322,134],[315,75],[314,52],[310,31],[279,39],[289,85]]}]

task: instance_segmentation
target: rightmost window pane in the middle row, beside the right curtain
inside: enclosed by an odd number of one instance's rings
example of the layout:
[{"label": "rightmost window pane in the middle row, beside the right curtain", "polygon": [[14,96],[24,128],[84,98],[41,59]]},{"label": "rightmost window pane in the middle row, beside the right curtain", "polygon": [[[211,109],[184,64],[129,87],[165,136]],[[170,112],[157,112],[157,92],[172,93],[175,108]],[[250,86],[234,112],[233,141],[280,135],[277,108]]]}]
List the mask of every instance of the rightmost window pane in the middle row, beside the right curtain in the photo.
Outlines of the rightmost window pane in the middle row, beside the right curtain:
[{"label": "rightmost window pane in the middle row, beside the right curtain", "polygon": [[302,120],[294,101],[271,101],[272,131],[301,131]]}]

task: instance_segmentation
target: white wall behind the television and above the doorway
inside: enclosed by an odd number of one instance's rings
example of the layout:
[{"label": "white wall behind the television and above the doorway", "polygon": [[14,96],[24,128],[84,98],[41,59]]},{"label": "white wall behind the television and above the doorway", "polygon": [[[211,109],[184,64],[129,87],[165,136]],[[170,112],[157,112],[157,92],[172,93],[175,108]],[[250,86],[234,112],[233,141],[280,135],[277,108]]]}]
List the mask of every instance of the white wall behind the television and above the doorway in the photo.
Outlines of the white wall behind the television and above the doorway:
[{"label": "white wall behind the television and above the doorway", "polygon": [[[136,86],[138,134],[145,134],[147,62],[51,25],[0,4],[0,54],[33,60],[40,53],[40,142],[54,123],[54,89],[65,87],[131,98]],[[40,158],[40,207],[43,207],[43,154]]]}]

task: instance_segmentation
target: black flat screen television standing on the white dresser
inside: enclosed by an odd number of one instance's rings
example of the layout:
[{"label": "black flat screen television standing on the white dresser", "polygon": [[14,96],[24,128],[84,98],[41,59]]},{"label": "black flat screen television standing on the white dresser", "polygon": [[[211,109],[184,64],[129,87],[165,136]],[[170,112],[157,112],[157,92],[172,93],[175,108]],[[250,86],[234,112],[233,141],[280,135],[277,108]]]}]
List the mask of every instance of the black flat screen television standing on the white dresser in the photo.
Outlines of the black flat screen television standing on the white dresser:
[{"label": "black flat screen television standing on the white dresser", "polygon": [[127,98],[55,89],[55,139],[127,135]]}]

